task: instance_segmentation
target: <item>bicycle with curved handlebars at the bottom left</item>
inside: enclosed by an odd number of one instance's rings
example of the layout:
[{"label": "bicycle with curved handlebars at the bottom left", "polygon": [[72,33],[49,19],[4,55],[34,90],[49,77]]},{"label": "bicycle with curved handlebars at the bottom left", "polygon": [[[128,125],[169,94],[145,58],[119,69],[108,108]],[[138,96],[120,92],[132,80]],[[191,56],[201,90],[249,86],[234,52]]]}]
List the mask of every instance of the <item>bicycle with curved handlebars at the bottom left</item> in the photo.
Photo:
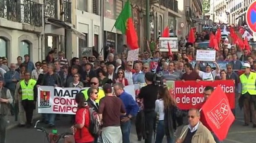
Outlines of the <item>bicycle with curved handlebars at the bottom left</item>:
[{"label": "bicycle with curved handlebars at the bottom left", "polygon": [[62,134],[58,134],[57,130],[54,129],[52,130],[52,133],[48,133],[47,130],[45,130],[44,128],[39,128],[37,127],[37,124],[40,122],[40,120],[38,120],[34,126],[35,129],[37,129],[37,131],[43,132],[46,134],[46,138],[48,143],[59,143],[60,139],[63,138],[65,140],[66,137],[69,138],[68,135],[74,135],[73,133],[62,133]]}]

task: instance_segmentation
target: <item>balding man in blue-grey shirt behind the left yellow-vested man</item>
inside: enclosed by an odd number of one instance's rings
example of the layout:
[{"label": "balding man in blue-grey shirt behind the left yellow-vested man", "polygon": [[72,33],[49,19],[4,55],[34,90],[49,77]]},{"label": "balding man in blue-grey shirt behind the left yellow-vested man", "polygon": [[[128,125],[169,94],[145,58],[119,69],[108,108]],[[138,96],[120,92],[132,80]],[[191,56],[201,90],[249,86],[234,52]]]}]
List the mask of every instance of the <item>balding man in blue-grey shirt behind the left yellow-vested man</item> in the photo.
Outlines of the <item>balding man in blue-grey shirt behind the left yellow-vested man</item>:
[{"label": "balding man in blue-grey shirt behind the left yellow-vested man", "polygon": [[[10,64],[10,70],[7,71],[4,75],[5,87],[10,90],[10,94],[12,95],[13,99],[14,99],[16,84],[21,79],[20,74],[17,71],[15,71],[15,69],[16,69],[16,64],[13,64],[13,63]],[[14,106],[13,105],[11,105],[11,107],[10,107],[10,112],[12,115],[14,115]]]}]

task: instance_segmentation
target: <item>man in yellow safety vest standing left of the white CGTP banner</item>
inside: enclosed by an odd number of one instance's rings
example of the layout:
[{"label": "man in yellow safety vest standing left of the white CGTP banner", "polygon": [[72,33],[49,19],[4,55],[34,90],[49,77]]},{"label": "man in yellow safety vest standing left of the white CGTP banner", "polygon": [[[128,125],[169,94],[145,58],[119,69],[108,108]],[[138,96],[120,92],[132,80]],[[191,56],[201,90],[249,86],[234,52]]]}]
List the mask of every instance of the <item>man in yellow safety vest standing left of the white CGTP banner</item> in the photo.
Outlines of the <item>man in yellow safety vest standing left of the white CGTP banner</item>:
[{"label": "man in yellow safety vest standing left of the white CGTP banner", "polygon": [[27,127],[31,127],[31,120],[33,116],[33,110],[36,107],[37,97],[34,96],[34,86],[37,81],[30,78],[30,72],[25,73],[25,78],[21,81],[21,104],[26,113]]}]

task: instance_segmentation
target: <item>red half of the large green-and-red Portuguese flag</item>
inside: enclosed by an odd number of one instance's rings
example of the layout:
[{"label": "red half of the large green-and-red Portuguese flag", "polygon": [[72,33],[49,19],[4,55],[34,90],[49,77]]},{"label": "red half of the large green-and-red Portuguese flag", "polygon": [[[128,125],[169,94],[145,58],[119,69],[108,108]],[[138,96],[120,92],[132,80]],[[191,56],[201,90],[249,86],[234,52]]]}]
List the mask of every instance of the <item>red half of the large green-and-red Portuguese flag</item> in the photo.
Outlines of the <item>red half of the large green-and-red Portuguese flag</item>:
[{"label": "red half of the large green-and-red Portuguese flag", "polygon": [[126,41],[131,50],[138,49],[138,36],[133,25],[133,19],[127,20]]}]

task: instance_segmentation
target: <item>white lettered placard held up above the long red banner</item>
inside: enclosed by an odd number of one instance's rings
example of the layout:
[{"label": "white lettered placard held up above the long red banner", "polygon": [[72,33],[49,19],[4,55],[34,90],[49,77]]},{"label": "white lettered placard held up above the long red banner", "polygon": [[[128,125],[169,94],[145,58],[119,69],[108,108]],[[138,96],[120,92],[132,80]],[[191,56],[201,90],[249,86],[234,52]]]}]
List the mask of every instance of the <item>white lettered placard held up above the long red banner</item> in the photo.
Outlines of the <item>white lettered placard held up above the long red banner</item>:
[{"label": "white lettered placard held up above the long red banner", "polygon": [[215,61],[215,50],[196,50],[196,61]]}]

